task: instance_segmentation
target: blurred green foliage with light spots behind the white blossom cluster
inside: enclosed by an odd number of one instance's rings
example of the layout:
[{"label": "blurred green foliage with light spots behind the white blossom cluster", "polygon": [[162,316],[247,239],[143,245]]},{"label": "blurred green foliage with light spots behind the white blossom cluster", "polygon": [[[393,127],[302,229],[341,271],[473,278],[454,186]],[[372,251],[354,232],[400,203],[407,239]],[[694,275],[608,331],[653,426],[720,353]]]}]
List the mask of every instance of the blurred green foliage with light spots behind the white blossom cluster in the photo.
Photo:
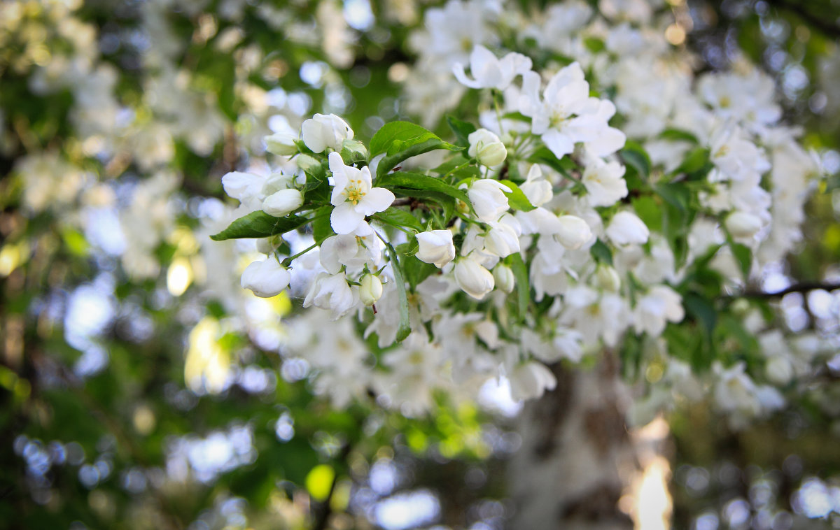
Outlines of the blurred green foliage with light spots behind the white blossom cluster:
[{"label": "blurred green foliage with light spots behind the white blossom cluster", "polygon": [[[0,7],[0,527],[323,528],[329,517],[335,528],[501,527],[511,509],[504,461],[518,444],[504,415],[444,397],[426,418],[386,413],[374,397],[331,408],[313,397],[304,362],[281,362],[265,339],[227,324],[233,309],[202,291],[202,267],[213,262],[196,259],[221,176],[247,167],[270,129],[336,112],[367,140],[386,121],[412,118],[399,96],[407,34],[434,3],[149,4]],[[680,45],[696,51],[700,70],[743,53],[774,75],[788,121],[837,174],[840,3],[662,8],[674,10]],[[349,49],[318,34],[330,17],[344,18]],[[85,46],[97,61],[82,69],[90,86],[51,83],[50,66]],[[113,101],[97,93],[108,86]],[[131,125],[110,137],[80,130],[97,113]],[[139,278],[92,236],[113,217],[77,217],[103,190],[129,208],[151,173],[145,158],[160,154],[137,132],[145,126],[171,137],[160,158],[179,175],[177,200],[164,217],[181,230],[152,242],[160,270]],[[36,179],[39,169],[25,165],[34,153],[54,157],[50,171],[62,178]],[[790,277],[840,277],[837,179],[810,205]],[[781,300],[801,309],[785,325],[837,333],[836,299],[825,314],[810,298]],[[188,352],[202,340],[193,333],[212,335],[216,355],[234,361],[223,387],[185,382]],[[674,527],[840,527],[840,425],[821,413],[840,403],[840,383],[829,383],[835,397],[738,433],[702,407],[674,413]]]}]

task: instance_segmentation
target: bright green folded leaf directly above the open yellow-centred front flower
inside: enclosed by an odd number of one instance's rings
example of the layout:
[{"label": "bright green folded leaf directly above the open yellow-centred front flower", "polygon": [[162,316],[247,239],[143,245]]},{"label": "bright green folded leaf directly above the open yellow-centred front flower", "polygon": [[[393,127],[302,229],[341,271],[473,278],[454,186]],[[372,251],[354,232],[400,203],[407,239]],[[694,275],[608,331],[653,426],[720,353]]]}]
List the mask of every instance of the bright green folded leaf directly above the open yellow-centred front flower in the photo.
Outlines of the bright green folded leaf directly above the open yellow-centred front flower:
[{"label": "bright green folded leaf directly above the open yellow-centred front flower", "polygon": [[459,151],[464,148],[444,142],[434,132],[409,122],[386,123],[370,138],[371,156],[386,153],[376,166],[377,176],[387,174],[406,158],[435,149]]}]

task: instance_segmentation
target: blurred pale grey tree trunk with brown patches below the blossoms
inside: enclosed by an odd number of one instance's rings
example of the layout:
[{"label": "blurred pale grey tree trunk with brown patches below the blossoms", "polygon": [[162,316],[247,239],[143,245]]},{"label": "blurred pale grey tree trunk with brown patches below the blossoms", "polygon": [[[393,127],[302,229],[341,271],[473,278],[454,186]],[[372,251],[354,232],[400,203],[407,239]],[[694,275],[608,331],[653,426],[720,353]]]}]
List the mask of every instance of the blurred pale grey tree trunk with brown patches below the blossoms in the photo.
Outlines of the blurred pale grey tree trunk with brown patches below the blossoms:
[{"label": "blurred pale grey tree trunk with brown patches below the blossoms", "polygon": [[609,354],[591,370],[556,364],[557,388],[527,403],[510,462],[512,530],[630,530],[618,501],[638,470],[625,412],[629,393]]}]

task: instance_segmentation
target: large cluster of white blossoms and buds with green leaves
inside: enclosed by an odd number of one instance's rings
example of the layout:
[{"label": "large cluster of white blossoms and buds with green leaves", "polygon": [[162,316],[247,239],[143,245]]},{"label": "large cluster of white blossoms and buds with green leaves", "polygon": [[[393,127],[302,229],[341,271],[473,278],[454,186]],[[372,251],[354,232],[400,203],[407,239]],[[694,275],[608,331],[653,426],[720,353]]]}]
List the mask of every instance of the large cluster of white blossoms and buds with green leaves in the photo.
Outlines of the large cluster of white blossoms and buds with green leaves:
[{"label": "large cluster of white blossoms and buds with green leaves", "polygon": [[[701,330],[714,310],[714,295],[697,302],[698,275],[717,275],[722,295],[790,250],[819,164],[780,124],[768,77],[742,61],[694,79],[648,29],[650,13],[614,4],[601,16],[582,2],[518,14],[522,37],[505,42],[490,4],[429,9],[407,101],[435,101],[431,120],[474,101],[477,123],[447,119],[455,143],[392,122],[365,145],[341,117],[316,114],[297,135],[265,139],[281,172],[224,177],[248,215],[218,238],[265,236],[267,257],[242,286],[289,289],[356,322],[334,339],[321,313],[296,325],[308,332],[290,355],[318,368],[324,392],[344,402],[374,389],[418,412],[434,389],[506,377],[514,398],[538,397],[556,384],[547,364],[605,350],[627,362],[631,333],[645,337],[645,363],[685,376],[658,379],[659,395],[740,377],[753,416],[784,403],[737,364],[685,372],[666,330]],[[457,98],[444,94],[453,87]],[[378,366],[353,330],[375,336]],[[645,417],[669,405],[641,403]]]}]

